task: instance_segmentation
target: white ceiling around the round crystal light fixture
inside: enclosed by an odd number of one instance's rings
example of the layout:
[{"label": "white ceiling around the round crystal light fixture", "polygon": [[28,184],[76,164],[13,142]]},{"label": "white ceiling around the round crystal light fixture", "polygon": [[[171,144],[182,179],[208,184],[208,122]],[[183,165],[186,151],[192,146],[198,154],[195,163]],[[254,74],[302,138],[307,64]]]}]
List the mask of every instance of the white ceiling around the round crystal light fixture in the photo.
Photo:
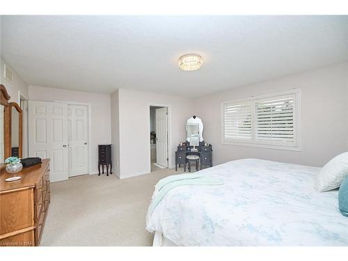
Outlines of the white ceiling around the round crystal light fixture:
[{"label": "white ceiling around the round crystal light fixture", "polygon": [[348,61],[347,16],[3,16],[1,33],[28,84],[97,93],[196,97]]}]

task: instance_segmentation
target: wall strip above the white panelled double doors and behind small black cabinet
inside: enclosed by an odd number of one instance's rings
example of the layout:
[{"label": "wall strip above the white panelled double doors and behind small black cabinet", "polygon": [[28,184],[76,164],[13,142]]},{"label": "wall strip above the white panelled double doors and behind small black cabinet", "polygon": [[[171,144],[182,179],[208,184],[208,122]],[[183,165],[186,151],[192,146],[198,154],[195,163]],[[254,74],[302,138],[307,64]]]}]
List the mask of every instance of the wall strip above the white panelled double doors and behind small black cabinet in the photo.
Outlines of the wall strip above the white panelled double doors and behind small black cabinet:
[{"label": "wall strip above the white panelled double doors and behind small black cabinet", "polygon": [[106,94],[79,92],[58,88],[29,86],[29,100],[89,103],[91,107],[92,171],[97,173],[98,144],[111,143],[111,97]]}]

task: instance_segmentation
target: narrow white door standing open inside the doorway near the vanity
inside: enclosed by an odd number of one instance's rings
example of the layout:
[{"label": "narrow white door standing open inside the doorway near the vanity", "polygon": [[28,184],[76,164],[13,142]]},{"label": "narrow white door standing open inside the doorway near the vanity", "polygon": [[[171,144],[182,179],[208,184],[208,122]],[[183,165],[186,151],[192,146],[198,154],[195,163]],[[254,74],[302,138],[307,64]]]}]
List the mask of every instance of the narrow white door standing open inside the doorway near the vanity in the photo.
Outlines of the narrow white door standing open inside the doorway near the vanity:
[{"label": "narrow white door standing open inside the doorway near the vanity", "polygon": [[167,108],[156,109],[156,160],[168,167],[168,115]]}]

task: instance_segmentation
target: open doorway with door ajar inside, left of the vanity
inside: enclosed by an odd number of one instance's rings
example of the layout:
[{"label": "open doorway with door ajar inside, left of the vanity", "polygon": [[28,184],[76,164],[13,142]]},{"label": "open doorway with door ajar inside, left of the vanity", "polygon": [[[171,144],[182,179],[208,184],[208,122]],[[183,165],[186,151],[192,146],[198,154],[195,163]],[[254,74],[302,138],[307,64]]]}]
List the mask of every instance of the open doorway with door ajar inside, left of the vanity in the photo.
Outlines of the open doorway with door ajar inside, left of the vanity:
[{"label": "open doorway with door ajar inside, left of the vanity", "polygon": [[168,107],[150,106],[151,172],[168,168]]}]

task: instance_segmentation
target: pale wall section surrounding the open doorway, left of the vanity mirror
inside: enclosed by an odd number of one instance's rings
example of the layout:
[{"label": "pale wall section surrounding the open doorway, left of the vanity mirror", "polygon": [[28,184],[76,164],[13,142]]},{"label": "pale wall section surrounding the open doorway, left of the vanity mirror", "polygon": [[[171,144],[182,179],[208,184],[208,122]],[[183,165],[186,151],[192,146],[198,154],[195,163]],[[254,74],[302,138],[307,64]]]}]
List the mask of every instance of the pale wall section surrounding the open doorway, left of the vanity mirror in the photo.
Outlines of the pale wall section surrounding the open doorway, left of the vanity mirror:
[{"label": "pale wall section surrounding the open doorway, left of the vanity mirror", "polygon": [[[186,97],[118,89],[120,153],[116,161],[121,178],[150,173],[150,105],[170,106],[169,164],[174,166],[177,144],[185,140],[185,124],[192,114],[190,102]],[[112,135],[114,140],[116,134]]]}]

